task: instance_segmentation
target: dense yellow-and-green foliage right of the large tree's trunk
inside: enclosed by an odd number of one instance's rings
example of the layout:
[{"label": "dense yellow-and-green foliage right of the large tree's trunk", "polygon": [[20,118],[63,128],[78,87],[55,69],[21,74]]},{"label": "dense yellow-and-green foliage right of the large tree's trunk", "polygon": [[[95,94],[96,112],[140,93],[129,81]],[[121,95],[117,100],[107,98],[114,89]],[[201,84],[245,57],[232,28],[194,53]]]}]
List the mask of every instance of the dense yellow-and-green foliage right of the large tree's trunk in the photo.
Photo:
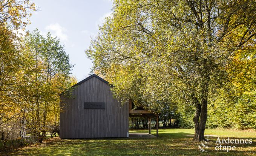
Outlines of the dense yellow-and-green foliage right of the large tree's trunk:
[{"label": "dense yellow-and-green foliage right of the large tree's trunk", "polygon": [[207,127],[255,128],[256,50],[250,49],[239,50],[226,68],[228,83],[210,99]]}]

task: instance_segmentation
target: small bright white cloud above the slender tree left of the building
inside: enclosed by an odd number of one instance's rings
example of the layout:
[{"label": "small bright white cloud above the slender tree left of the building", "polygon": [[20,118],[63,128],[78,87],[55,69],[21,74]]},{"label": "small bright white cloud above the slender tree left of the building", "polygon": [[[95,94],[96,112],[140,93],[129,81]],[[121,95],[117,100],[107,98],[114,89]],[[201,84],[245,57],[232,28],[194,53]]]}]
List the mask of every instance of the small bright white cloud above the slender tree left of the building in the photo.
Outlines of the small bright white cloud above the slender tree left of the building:
[{"label": "small bright white cloud above the slender tree left of the building", "polygon": [[54,36],[57,36],[62,41],[67,40],[67,34],[65,34],[67,31],[66,28],[61,27],[58,23],[46,26],[45,30],[50,31]]}]

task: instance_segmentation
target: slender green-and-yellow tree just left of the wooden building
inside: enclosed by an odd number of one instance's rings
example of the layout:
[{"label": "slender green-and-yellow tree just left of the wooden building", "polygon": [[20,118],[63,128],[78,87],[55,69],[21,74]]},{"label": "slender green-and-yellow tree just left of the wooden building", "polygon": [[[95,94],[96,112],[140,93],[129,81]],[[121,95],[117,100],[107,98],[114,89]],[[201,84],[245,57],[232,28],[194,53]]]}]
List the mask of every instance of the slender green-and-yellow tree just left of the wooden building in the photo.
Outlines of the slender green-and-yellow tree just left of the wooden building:
[{"label": "slender green-and-yellow tree just left of the wooden building", "polygon": [[25,38],[25,45],[32,57],[26,124],[35,142],[41,143],[50,125],[58,127],[59,94],[70,87],[73,65],[60,40],[51,33],[43,36],[36,29]]}]

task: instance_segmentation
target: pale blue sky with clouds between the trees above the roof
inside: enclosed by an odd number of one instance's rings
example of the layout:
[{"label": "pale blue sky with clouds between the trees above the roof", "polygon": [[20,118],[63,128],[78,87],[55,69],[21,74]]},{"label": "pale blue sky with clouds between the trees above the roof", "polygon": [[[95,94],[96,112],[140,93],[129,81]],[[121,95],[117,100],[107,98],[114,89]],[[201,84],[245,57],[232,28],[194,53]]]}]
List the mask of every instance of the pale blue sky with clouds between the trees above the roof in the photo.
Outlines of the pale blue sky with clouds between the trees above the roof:
[{"label": "pale blue sky with clouds between the trees above the roof", "polygon": [[38,6],[32,12],[31,24],[27,31],[38,28],[42,34],[50,31],[65,45],[69,55],[72,75],[78,81],[90,75],[92,61],[86,57],[85,50],[91,37],[98,32],[98,25],[112,12],[111,0],[33,0]]}]

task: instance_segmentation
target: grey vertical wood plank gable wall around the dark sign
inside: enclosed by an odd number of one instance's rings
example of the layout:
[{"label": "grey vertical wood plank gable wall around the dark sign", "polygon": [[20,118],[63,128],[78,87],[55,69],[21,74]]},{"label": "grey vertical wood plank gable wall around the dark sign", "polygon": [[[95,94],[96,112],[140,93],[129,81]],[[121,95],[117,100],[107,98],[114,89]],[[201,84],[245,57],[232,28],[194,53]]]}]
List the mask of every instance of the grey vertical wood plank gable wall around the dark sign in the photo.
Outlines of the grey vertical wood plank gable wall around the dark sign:
[{"label": "grey vertical wood plank gable wall around the dark sign", "polygon": [[[121,105],[108,84],[92,77],[76,86],[72,95],[60,96],[60,138],[127,137],[128,101]],[[105,102],[105,109],[84,109],[84,102]]]}]

